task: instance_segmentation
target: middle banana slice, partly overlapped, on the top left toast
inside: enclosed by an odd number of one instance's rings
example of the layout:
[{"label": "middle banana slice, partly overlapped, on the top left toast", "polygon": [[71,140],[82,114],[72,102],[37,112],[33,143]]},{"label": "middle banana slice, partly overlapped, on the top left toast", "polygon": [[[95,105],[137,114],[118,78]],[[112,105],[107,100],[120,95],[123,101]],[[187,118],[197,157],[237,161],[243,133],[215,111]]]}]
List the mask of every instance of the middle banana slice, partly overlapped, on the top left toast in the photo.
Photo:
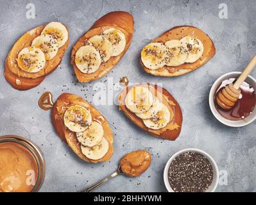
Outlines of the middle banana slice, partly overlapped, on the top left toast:
[{"label": "middle banana slice, partly overlapped, on the top left toast", "polygon": [[44,34],[35,38],[32,42],[32,46],[38,47],[44,52],[46,60],[53,59],[58,53],[58,42],[52,35]]}]

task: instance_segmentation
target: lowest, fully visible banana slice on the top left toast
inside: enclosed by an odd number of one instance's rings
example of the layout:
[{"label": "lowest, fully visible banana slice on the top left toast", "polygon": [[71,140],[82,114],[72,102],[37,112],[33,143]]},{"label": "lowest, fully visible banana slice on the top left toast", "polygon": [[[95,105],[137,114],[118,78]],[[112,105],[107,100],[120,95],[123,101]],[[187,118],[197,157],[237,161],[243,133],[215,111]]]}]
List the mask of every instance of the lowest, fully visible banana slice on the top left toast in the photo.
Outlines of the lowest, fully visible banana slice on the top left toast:
[{"label": "lowest, fully visible banana slice on the top left toast", "polygon": [[25,47],[18,54],[17,64],[21,70],[26,72],[38,72],[44,69],[46,58],[37,47]]}]

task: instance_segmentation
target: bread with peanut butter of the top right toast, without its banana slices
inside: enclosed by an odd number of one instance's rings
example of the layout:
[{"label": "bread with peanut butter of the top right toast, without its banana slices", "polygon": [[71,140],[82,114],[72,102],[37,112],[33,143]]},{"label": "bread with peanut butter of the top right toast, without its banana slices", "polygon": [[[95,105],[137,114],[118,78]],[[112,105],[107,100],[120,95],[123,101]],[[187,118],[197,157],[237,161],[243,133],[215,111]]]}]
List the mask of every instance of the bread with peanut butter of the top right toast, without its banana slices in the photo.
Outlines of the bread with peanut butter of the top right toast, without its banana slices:
[{"label": "bread with peanut butter of the top right toast, without its banana slices", "polygon": [[198,59],[194,63],[184,63],[182,65],[171,67],[164,66],[157,70],[148,69],[144,66],[142,60],[140,59],[143,69],[154,76],[182,76],[188,72],[198,69],[199,67],[207,63],[207,61],[209,61],[215,54],[214,43],[207,34],[205,34],[203,31],[194,26],[176,26],[174,28],[169,29],[169,31],[166,31],[165,33],[160,35],[160,37],[156,38],[152,42],[160,42],[164,44],[168,40],[180,40],[181,38],[187,35],[198,37],[201,40],[204,50],[200,59]]}]

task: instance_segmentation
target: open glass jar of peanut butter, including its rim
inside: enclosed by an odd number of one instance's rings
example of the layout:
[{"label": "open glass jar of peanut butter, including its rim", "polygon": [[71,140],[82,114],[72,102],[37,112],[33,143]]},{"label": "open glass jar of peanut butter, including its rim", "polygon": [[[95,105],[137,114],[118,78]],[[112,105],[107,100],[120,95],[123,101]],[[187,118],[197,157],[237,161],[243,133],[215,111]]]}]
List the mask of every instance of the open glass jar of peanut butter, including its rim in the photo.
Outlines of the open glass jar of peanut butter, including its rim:
[{"label": "open glass jar of peanut butter, including its rim", "polygon": [[0,136],[0,192],[38,192],[46,173],[44,156],[21,136]]}]

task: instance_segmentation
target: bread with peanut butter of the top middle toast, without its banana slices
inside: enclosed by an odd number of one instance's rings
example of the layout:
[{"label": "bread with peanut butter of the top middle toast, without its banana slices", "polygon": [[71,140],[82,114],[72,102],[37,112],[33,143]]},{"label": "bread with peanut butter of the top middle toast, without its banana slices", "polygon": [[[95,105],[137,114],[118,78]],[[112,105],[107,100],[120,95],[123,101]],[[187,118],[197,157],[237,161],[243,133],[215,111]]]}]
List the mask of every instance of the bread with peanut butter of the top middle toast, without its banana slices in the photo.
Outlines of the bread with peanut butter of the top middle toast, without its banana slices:
[{"label": "bread with peanut butter of the top middle toast, without its banana slices", "polygon": [[[117,28],[122,31],[126,38],[126,45],[123,53],[119,54],[119,56],[112,56],[107,62],[101,63],[100,67],[96,72],[91,74],[85,74],[81,72],[74,62],[75,54],[78,49],[85,45],[86,40],[94,35],[101,35],[101,33],[108,28]],[[126,53],[130,44],[132,42],[133,37],[133,17],[130,13],[127,12],[110,12],[97,20],[92,27],[85,33],[79,40],[74,44],[73,50],[71,53],[71,63],[74,67],[74,73],[76,74],[76,78],[79,82],[89,82],[94,81],[96,79],[102,78],[106,76],[110,70],[114,68],[114,66],[121,60],[123,55]]]}]

